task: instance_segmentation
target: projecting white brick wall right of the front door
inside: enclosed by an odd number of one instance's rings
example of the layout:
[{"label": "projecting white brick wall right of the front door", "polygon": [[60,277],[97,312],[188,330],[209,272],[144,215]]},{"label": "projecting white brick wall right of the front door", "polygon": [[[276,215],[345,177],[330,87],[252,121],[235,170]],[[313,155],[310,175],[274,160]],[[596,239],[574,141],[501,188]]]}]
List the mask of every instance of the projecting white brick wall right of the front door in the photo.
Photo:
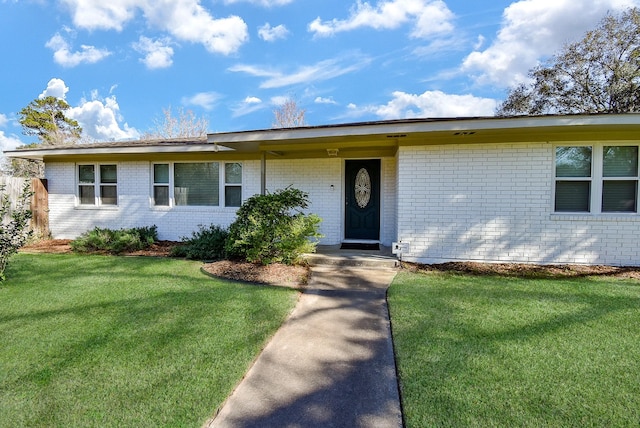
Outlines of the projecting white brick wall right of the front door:
[{"label": "projecting white brick wall right of the front door", "polygon": [[551,144],[402,147],[405,260],[640,265],[640,216],[553,214]]}]

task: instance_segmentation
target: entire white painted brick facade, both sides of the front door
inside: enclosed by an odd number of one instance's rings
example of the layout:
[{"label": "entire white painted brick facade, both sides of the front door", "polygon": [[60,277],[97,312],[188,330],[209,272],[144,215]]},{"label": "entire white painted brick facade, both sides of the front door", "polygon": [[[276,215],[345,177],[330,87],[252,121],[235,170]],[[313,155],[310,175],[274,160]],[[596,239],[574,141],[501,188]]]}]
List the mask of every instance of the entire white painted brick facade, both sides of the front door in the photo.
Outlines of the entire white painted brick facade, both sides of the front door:
[{"label": "entire white painted brick facade, both sides of the front door", "polygon": [[[381,241],[409,244],[403,259],[640,265],[637,214],[553,213],[550,143],[400,147],[381,162]],[[344,236],[344,160],[269,160],[267,189],[310,195],[322,244]],[[48,163],[51,233],[75,238],[94,226],[157,225],[160,239],[198,225],[228,226],[235,208],[151,206],[151,163],[118,163],[118,206],[76,205],[73,163]],[[331,187],[333,185],[333,188]],[[243,162],[243,198],[260,192],[260,161]]]}]

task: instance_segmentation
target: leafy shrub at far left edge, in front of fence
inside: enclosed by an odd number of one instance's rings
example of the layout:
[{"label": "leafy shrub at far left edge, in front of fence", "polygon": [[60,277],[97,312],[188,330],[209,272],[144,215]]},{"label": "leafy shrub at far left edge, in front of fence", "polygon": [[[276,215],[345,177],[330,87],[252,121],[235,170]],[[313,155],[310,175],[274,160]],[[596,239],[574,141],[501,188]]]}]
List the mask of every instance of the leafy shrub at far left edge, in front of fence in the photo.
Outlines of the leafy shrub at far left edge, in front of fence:
[{"label": "leafy shrub at far left edge, in front of fence", "polygon": [[0,186],[0,281],[4,281],[9,258],[27,242],[33,231],[29,229],[32,213],[29,209],[31,186],[27,182],[18,200],[12,203],[5,186]]}]

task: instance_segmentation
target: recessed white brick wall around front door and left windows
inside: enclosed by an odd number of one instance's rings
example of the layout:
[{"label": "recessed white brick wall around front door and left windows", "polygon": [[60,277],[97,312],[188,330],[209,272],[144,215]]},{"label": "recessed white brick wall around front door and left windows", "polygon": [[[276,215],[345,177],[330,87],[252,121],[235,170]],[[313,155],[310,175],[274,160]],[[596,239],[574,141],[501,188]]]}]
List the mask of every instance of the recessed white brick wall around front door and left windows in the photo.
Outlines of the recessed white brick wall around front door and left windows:
[{"label": "recessed white brick wall around front door and left windows", "polygon": [[[246,199],[260,193],[260,161],[244,161],[242,164],[242,197]],[[321,243],[326,245],[339,244],[344,236],[343,167],[344,161],[339,158],[267,162],[268,191],[293,186],[309,193],[311,206],[308,211],[322,218],[320,232],[324,238]],[[383,160],[382,170],[381,237],[383,243],[390,245],[395,239],[395,160]],[[76,238],[95,226],[119,229],[156,225],[160,239],[179,240],[190,236],[198,225],[228,226],[235,219],[234,208],[153,207],[150,162],[118,163],[117,207],[78,207],[73,163],[47,163],[46,175],[50,180],[49,216],[51,233],[55,238]]]}]

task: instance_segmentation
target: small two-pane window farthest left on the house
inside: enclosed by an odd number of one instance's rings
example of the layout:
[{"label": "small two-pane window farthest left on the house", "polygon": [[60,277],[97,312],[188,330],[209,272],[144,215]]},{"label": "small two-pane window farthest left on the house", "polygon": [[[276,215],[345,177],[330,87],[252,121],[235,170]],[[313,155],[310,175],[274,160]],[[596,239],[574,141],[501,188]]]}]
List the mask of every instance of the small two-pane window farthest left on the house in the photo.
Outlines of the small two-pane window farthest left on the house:
[{"label": "small two-pane window farthest left on the house", "polygon": [[117,205],[117,166],[78,165],[78,199],[80,205]]}]

